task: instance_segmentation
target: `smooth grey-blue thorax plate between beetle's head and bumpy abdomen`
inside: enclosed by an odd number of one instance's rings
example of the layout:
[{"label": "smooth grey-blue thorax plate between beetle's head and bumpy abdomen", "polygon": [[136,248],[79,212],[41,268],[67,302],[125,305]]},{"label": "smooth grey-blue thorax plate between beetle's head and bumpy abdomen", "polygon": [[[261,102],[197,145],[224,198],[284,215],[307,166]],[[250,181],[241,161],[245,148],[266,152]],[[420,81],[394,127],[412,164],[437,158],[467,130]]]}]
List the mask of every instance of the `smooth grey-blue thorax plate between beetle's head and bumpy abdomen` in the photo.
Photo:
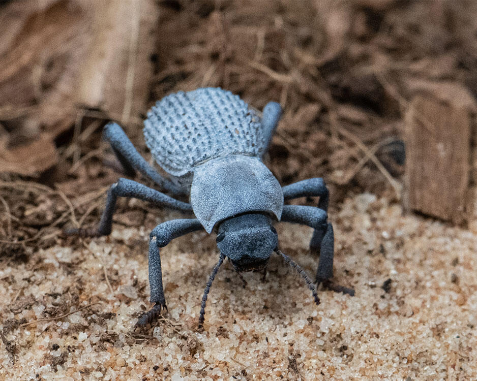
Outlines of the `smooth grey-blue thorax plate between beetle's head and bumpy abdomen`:
[{"label": "smooth grey-blue thorax plate between beetle's head and bumpy abdomen", "polygon": [[230,155],[194,169],[191,186],[194,214],[207,233],[226,218],[263,212],[280,220],[282,188],[257,157]]}]

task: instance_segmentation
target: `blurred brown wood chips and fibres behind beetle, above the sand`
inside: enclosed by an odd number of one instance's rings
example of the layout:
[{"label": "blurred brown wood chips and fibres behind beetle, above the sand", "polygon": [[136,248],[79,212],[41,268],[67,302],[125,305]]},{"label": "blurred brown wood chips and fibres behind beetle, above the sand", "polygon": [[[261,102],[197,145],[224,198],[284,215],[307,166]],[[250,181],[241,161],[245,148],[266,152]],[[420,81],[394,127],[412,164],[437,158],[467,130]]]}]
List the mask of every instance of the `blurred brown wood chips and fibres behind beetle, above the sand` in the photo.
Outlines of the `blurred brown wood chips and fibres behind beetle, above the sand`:
[{"label": "blurred brown wood chips and fibres behind beetle, above the sand", "polygon": [[[178,90],[220,86],[284,113],[267,164],[476,231],[477,3],[0,3],[0,256],[96,223],[120,169],[101,141]],[[126,201],[122,201],[126,203]],[[154,227],[130,202],[116,223]],[[121,207],[120,207],[121,208]]]}]

